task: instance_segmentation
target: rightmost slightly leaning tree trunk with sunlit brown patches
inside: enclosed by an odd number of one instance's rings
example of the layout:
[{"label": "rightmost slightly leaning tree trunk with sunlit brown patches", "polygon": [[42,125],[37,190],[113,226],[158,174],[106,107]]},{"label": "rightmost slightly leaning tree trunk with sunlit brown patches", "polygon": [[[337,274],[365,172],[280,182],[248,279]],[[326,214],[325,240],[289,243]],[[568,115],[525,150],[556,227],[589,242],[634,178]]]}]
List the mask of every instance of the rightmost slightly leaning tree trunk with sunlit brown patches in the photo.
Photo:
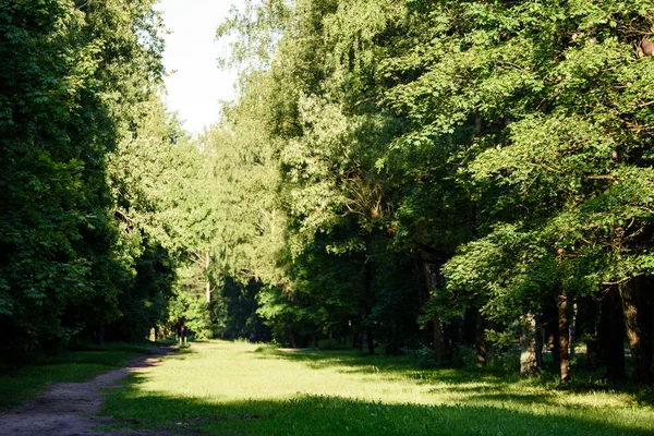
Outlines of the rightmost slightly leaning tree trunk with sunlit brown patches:
[{"label": "rightmost slightly leaning tree trunk with sunlit brown patches", "polygon": [[643,341],[643,331],[640,326],[639,306],[637,303],[635,287],[640,280],[632,280],[629,283],[620,284],[619,292],[622,301],[622,313],[625,315],[625,326],[627,327],[627,339],[631,350],[635,380],[645,385],[654,383],[654,373],[652,372],[652,353],[647,350]]}]

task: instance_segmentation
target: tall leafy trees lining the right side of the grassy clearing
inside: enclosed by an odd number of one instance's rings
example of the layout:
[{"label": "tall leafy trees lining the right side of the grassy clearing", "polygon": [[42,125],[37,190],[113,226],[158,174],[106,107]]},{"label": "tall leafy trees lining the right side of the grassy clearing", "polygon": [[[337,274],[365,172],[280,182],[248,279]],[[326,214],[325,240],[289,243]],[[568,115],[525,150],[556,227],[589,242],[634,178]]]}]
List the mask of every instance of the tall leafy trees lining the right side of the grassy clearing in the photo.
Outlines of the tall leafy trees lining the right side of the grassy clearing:
[{"label": "tall leafy trees lining the right side of the grassy clearing", "polygon": [[[485,334],[652,383],[649,1],[268,0],[235,36],[217,277],[280,341],[353,335],[437,361]],[[420,326],[424,329],[421,331]],[[572,349],[574,350],[574,349]]]}]

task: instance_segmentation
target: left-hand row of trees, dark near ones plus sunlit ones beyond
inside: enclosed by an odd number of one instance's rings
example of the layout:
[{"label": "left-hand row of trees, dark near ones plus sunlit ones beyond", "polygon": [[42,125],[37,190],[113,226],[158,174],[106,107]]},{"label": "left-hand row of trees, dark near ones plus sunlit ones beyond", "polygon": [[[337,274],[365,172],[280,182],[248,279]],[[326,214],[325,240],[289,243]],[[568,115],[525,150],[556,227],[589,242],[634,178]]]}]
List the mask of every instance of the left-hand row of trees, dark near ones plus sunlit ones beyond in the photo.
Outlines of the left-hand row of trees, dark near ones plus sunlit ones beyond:
[{"label": "left-hand row of trees, dark near ones plus sunlit ones beyond", "polygon": [[0,4],[3,350],[207,325],[209,164],[160,101],[154,4]]}]

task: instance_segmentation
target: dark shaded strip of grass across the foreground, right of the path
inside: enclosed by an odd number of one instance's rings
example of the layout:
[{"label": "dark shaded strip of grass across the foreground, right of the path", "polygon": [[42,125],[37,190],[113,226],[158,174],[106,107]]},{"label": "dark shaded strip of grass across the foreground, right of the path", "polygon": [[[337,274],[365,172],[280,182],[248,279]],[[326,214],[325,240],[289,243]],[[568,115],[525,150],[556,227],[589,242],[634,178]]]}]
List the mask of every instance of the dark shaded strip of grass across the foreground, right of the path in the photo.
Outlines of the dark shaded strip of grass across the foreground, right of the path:
[{"label": "dark shaded strip of grass across the foreground, right of the path", "polygon": [[[652,426],[589,410],[529,412],[504,407],[383,404],[298,395],[287,400],[210,401],[140,389],[109,392],[106,413],[129,427],[216,435],[646,435]],[[623,417],[623,416],[621,416]],[[136,425],[134,425],[136,423]]]}]

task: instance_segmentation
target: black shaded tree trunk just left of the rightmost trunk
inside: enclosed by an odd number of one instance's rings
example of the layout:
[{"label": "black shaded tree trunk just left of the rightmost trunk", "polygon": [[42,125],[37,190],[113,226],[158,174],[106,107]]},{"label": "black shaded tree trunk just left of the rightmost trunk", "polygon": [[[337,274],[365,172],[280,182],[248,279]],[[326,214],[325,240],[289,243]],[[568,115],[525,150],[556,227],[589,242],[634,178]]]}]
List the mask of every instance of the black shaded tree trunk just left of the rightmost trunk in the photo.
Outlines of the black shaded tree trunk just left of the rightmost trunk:
[{"label": "black shaded tree trunk just left of the rightmost trunk", "polygon": [[620,298],[615,287],[610,288],[602,300],[602,322],[600,326],[600,344],[602,363],[606,366],[606,378],[627,378],[625,365],[625,320]]}]

